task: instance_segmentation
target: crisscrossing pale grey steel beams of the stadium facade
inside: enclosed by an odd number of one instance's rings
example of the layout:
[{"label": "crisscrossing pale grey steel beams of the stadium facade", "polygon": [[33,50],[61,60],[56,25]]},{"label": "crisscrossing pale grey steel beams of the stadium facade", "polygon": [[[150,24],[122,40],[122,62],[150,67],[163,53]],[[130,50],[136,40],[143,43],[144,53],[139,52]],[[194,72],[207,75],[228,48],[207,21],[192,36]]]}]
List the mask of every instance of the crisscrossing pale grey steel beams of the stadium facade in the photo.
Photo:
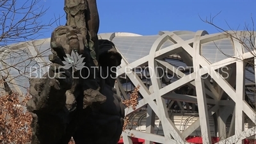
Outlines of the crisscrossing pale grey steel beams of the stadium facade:
[{"label": "crisscrossing pale grey steel beams of the stadium facade", "polygon": [[[248,117],[253,124],[256,120],[255,109],[246,102],[245,95],[245,63],[243,60],[253,58],[251,52],[244,52],[244,48],[236,40],[234,44],[234,58],[225,58],[224,60],[210,63],[207,58],[201,54],[201,46],[207,42],[228,38],[223,33],[208,35],[206,31],[197,31],[194,38],[183,40],[179,35],[189,34],[189,31],[161,31],[159,38],[152,45],[148,56],[140,58],[132,63],[125,60],[118,68],[118,76],[125,76],[132,85],[140,85],[141,99],[136,110],[126,108],[125,113],[132,115],[141,111],[141,108],[147,107],[147,116],[145,116],[145,132],[131,129],[122,133],[124,143],[132,143],[133,137],[146,140],[145,143],[188,143],[186,138],[190,136],[196,129],[200,130],[203,143],[212,143],[210,119],[212,115],[216,115],[215,127],[220,137],[218,143],[243,143],[244,138],[255,135],[255,126],[244,129],[244,118]],[[229,31],[232,35],[236,35]],[[113,39],[111,38],[106,39]],[[172,41],[174,44],[161,49],[166,41]],[[118,47],[117,47],[118,49]],[[217,49],[217,47],[216,47]],[[122,52],[121,52],[122,54]],[[164,61],[164,58],[172,54],[179,54],[182,61],[187,66],[193,67],[189,74],[185,74],[179,68]],[[239,60],[237,60],[239,58]],[[137,67],[150,67],[150,86],[146,86],[143,79],[134,71]],[[166,70],[166,74],[180,76],[182,78],[173,83],[163,86],[163,77],[160,79],[160,72],[157,67]],[[228,77],[221,77],[220,72],[216,70],[222,67],[229,67]],[[232,67],[232,68],[231,68]],[[207,78],[202,76],[208,75]],[[256,79],[256,77],[255,77]],[[254,80],[255,80],[254,79]],[[127,99],[129,95],[125,92],[122,83],[118,79],[116,88],[123,99]],[[182,86],[189,86],[195,90],[194,95],[177,94],[175,90]],[[236,86],[236,87],[235,87]],[[255,86],[255,83],[254,83]],[[177,100],[180,102],[188,102],[198,107],[198,119],[186,127],[184,131],[180,131],[175,126],[175,122],[170,118],[170,106],[166,100]],[[186,104],[187,110],[189,105]],[[184,110],[184,109],[183,109]],[[173,114],[174,115],[174,114]],[[231,117],[230,117],[231,116]],[[156,118],[161,122],[163,134],[156,134]],[[227,119],[230,118],[228,133],[226,132]]]}]

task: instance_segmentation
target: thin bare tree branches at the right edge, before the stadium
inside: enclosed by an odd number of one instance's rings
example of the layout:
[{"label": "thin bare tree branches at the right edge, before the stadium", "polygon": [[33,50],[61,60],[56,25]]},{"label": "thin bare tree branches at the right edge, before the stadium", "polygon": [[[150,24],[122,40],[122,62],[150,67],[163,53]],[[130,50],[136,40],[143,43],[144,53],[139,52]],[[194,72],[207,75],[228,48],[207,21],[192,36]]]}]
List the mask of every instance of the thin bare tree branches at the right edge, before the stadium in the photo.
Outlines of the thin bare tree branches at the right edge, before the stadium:
[{"label": "thin bare tree branches at the right edge, before the stadium", "polygon": [[[227,36],[227,38],[230,38],[231,42],[234,44],[234,42],[239,42],[239,44],[241,44],[244,53],[248,53],[251,54],[252,56],[250,56],[250,58],[244,56],[243,54],[238,53],[238,56],[230,56],[228,54],[225,54],[225,52],[223,52],[223,49],[221,47],[219,47],[218,45],[215,46],[216,48],[218,48],[220,50],[220,52],[222,54],[224,54],[225,56],[227,56],[227,58],[234,58],[236,60],[242,60],[245,63],[245,69],[247,72],[252,73],[253,75],[255,75],[255,65],[256,65],[256,31],[255,31],[255,22],[253,19],[253,16],[251,16],[251,20],[250,22],[244,22],[243,27],[241,28],[241,26],[238,26],[237,29],[232,29],[231,26],[228,24],[227,21],[225,21],[225,23],[228,26],[228,30],[227,29],[223,29],[221,28],[221,26],[218,26],[216,24],[216,22],[214,21],[216,19],[216,17],[218,17],[218,15],[220,15],[221,12],[217,13],[216,15],[212,16],[210,15],[210,17],[207,17],[206,19],[202,19],[202,17],[200,17],[200,19],[207,23],[210,24],[211,26],[213,26],[214,28],[216,28],[218,31],[220,31],[220,33],[223,33],[224,35]],[[243,30],[241,30],[243,29]],[[234,51],[236,51],[236,47],[234,47]],[[245,77],[245,79],[248,79],[247,77]],[[245,101],[256,111],[256,88],[255,88],[255,79],[248,79],[248,81],[252,81],[252,84],[246,84],[245,86]],[[256,126],[256,125],[254,125]],[[255,134],[255,132],[253,132],[253,134]],[[252,141],[249,141],[249,143],[255,143],[254,140],[255,136],[252,136],[252,138],[250,138]],[[239,138],[238,138],[239,139]]]}]

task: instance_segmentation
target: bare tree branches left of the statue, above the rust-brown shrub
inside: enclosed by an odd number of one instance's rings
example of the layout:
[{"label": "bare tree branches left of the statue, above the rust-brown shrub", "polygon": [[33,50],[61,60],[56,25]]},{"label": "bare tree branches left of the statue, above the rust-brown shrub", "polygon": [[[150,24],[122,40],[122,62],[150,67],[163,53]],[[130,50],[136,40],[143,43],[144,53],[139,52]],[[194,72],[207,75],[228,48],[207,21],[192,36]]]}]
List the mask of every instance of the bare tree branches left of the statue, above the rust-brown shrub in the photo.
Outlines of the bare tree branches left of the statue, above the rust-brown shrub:
[{"label": "bare tree branches left of the statue, above the rust-brown shrub", "polygon": [[[0,1],[0,77],[6,83],[17,85],[15,82],[24,81],[29,76],[29,67],[35,66],[36,58],[44,53],[31,54],[28,47],[58,20],[44,22],[42,17],[47,10],[40,0]],[[18,85],[26,88],[24,84]]]}]

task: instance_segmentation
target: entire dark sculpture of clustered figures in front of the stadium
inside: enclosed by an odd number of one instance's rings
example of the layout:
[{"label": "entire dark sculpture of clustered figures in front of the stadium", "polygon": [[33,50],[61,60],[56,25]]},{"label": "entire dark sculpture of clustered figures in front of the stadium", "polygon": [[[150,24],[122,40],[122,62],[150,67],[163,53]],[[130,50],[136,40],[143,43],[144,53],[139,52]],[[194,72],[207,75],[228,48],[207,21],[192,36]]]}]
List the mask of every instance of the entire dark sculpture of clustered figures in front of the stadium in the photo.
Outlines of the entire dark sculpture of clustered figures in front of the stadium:
[{"label": "entire dark sculpture of clustered figures in front of the stadium", "polygon": [[[113,86],[122,58],[113,43],[98,40],[95,0],[65,0],[64,10],[67,24],[51,36],[49,72],[44,79],[30,80],[31,144],[67,144],[72,136],[76,144],[117,143],[124,106]],[[75,53],[77,58],[68,57]]]}]

